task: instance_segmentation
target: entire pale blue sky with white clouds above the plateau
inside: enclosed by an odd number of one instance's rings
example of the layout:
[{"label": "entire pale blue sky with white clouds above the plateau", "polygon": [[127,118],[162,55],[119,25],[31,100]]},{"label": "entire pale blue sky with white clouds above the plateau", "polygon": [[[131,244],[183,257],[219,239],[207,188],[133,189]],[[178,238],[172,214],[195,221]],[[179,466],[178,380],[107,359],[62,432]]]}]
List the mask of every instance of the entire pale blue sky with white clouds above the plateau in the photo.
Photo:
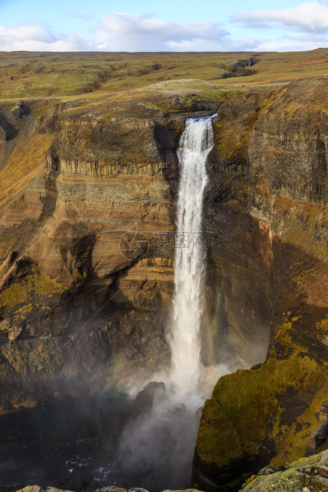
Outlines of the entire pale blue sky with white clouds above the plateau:
[{"label": "entire pale blue sky with white clouds above the plateau", "polygon": [[307,51],[328,0],[0,0],[0,51]]}]

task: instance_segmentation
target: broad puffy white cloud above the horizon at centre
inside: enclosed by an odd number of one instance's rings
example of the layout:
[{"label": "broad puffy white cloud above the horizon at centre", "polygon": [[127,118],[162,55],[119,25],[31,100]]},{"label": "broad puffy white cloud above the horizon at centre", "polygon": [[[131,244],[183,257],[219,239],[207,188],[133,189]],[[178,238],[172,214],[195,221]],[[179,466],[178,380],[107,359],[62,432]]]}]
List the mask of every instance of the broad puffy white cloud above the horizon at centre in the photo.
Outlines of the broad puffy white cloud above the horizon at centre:
[{"label": "broad puffy white cloud above the horizon at centre", "polygon": [[150,15],[103,14],[90,31],[98,49],[108,51],[219,50],[228,36],[219,22],[173,22]]}]

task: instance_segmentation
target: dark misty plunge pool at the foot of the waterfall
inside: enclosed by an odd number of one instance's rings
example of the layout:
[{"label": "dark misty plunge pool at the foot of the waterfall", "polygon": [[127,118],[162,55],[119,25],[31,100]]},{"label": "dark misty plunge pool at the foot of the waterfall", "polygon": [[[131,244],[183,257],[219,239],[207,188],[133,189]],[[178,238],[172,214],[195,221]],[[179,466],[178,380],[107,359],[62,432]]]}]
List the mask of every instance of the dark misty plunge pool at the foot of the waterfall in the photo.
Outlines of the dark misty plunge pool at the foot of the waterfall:
[{"label": "dark misty plunge pool at the foot of the waterfall", "polygon": [[0,491],[23,485],[184,489],[197,417],[170,400],[161,407],[162,414],[137,412],[127,395],[107,393],[1,415]]}]

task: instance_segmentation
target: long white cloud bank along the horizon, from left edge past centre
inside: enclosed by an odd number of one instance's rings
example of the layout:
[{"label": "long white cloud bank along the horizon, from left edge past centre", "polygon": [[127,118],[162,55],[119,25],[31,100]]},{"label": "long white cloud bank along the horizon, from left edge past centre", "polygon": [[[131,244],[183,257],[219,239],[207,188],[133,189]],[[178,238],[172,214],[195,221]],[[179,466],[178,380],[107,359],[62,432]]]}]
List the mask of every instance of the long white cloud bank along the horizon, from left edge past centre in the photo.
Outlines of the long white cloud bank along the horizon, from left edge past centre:
[{"label": "long white cloud bank along the horizon, from left edge past centre", "polygon": [[89,34],[88,39],[58,33],[32,22],[0,26],[0,51],[218,51],[229,39],[219,22],[172,22],[123,13],[103,14]]}]

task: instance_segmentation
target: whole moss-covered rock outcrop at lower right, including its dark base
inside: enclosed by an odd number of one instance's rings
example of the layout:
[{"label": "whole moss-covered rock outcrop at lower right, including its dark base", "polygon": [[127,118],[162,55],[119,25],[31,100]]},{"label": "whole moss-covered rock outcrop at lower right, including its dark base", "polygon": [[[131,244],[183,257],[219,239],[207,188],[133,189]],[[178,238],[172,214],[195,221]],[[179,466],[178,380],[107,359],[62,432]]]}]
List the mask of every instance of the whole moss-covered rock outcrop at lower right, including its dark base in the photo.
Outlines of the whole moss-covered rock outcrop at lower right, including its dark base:
[{"label": "whole moss-covered rock outcrop at lower right, including its dark base", "polygon": [[327,354],[296,332],[297,321],[280,327],[265,364],[217,382],[197,435],[194,480],[201,487],[234,487],[243,473],[294,461],[320,444]]}]

